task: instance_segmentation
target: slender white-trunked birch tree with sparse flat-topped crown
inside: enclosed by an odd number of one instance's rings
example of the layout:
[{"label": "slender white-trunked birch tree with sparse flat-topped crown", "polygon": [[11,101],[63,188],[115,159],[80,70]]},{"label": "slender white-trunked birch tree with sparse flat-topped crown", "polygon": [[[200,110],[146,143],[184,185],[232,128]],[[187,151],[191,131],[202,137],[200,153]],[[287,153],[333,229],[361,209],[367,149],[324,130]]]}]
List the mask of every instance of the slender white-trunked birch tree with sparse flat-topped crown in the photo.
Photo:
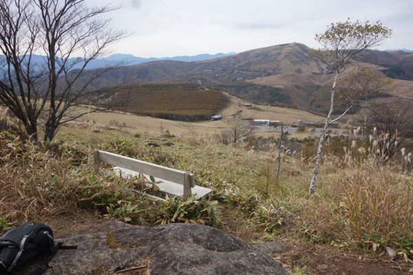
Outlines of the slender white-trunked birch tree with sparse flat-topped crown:
[{"label": "slender white-trunked birch tree with sparse flat-topped crown", "polygon": [[310,182],[310,194],[315,192],[317,174],[321,162],[321,149],[323,148],[328,126],[332,122],[336,122],[342,118],[343,115],[346,115],[346,113],[354,106],[354,102],[350,102],[341,115],[332,119],[339,76],[352,67],[352,58],[359,55],[363,50],[380,45],[385,39],[390,37],[391,33],[392,31],[383,26],[380,21],[370,24],[369,21],[366,21],[365,23],[359,21],[350,22],[348,19],[345,22],[331,23],[326,32],[315,35],[315,40],[321,44],[321,48],[310,52],[310,57],[326,65],[328,70],[334,72],[335,77],[331,87],[330,111],[328,111],[324,129],[320,135],[319,146],[317,148],[317,159],[313,177]]}]

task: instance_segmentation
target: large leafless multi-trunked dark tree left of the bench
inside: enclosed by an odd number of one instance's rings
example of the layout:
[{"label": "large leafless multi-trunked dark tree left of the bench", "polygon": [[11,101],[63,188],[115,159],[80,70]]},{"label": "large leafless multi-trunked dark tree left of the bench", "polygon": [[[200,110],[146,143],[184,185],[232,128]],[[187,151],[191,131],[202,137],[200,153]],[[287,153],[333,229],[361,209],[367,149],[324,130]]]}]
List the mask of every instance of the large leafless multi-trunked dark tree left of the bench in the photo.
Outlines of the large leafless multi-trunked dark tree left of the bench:
[{"label": "large leafless multi-trunked dark tree left of the bench", "polygon": [[79,81],[90,61],[125,36],[109,28],[110,19],[99,19],[117,8],[89,8],[85,0],[0,0],[0,104],[32,139],[38,139],[40,119],[44,140],[52,140],[60,124],[87,113],[68,110],[92,93],[93,80],[113,69],[95,70]]}]

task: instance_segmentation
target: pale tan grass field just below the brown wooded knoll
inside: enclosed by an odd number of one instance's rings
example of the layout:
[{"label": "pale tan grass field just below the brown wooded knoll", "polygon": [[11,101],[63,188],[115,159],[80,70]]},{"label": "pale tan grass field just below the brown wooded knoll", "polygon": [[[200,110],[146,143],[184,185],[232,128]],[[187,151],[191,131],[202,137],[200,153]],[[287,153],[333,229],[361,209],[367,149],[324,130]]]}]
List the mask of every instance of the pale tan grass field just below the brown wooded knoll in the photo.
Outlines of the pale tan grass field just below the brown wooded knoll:
[{"label": "pale tan grass field just below the brown wooded knoll", "polygon": [[[229,96],[229,95],[226,95]],[[296,109],[281,108],[281,107],[266,107],[262,105],[254,105],[257,109],[262,111],[256,111],[254,109],[248,109],[243,107],[244,100],[229,96],[231,104],[222,110],[220,113],[224,115],[222,120],[217,121],[202,121],[202,122],[181,122],[173,120],[162,120],[159,118],[150,118],[142,115],[134,115],[131,113],[121,112],[105,112],[105,113],[89,113],[77,120],[73,124],[75,126],[83,126],[91,129],[92,131],[102,129],[104,127],[110,127],[112,121],[118,122],[119,125],[125,124],[122,131],[129,131],[131,133],[140,133],[148,135],[161,135],[162,132],[169,130],[177,137],[189,137],[195,140],[211,140],[213,136],[220,135],[221,131],[228,129],[227,122],[234,120],[233,115],[237,114],[242,119],[270,119],[280,120],[284,124],[290,124],[297,122],[301,119],[304,121],[317,121],[324,120],[324,118],[313,115],[305,111],[297,111]],[[71,114],[87,112],[87,107],[76,107],[71,110]],[[65,129],[65,127],[63,127]],[[256,136],[278,136],[279,133],[273,133],[269,131],[262,131],[257,129]],[[93,135],[93,133],[91,133]],[[308,133],[292,133],[291,137],[304,138],[308,137]]]}]

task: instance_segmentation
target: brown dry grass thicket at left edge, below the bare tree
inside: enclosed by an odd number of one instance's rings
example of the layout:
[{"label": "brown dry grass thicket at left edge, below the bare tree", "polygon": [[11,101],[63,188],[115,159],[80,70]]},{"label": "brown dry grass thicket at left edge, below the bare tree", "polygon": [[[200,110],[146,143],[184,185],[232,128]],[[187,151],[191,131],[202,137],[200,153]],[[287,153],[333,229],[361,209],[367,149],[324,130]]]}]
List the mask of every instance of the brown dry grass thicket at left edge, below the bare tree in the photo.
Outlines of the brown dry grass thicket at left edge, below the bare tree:
[{"label": "brown dry grass thicket at left edge, below the bare tree", "polygon": [[85,157],[82,151],[54,151],[19,138],[0,136],[0,212],[12,220],[38,220],[65,214],[81,197],[73,166]]}]

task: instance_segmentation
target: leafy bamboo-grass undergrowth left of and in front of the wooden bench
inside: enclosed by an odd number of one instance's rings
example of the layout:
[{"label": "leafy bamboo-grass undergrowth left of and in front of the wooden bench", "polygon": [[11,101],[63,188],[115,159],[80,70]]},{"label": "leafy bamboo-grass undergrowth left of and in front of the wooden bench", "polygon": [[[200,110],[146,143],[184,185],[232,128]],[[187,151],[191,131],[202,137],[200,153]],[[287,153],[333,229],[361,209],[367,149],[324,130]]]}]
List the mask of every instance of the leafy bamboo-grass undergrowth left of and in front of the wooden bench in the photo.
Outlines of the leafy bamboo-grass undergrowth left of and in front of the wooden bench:
[{"label": "leafy bamboo-grass undergrowth left of and in front of the wooden bench", "polygon": [[[145,152],[132,151],[135,147],[123,140],[109,146],[128,153]],[[215,203],[170,198],[157,204],[132,191],[148,191],[145,183],[150,182],[149,189],[156,192],[153,178],[126,180],[105,168],[95,175],[92,158],[81,148],[74,151],[62,143],[35,145],[0,133],[0,152],[0,232],[22,221],[46,222],[78,208],[96,209],[107,219],[144,225],[177,222],[220,226]],[[147,157],[157,156],[167,162],[168,155],[157,152]]]}]

